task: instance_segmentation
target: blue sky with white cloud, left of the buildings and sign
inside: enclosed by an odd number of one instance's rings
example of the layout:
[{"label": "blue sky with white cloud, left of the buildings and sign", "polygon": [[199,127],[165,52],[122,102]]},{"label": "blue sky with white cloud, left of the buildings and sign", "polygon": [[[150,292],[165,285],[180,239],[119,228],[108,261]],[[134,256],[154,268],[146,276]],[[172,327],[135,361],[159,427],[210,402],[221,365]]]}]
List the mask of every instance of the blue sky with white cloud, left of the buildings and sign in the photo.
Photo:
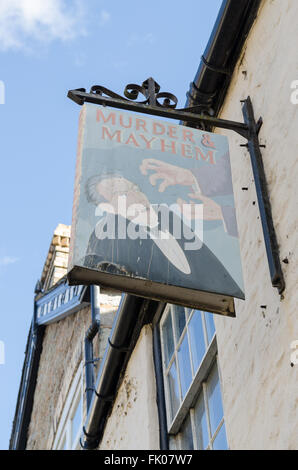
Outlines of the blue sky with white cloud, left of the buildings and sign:
[{"label": "blue sky with white cloud, left of the buildings and sign", "polygon": [[152,76],[183,107],[220,5],[0,2],[0,449],[8,448],[34,287],[55,227],[71,222],[80,108],[67,91],[98,84],[122,94]]}]

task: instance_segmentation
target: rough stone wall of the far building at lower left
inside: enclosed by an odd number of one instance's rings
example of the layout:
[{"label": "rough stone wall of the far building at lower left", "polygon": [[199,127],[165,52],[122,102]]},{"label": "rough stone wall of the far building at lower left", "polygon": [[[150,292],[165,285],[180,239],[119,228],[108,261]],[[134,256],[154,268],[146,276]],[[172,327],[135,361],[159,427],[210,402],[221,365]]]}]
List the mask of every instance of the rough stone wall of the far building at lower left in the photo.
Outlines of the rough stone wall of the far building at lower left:
[{"label": "rough stone wall of the far building at lower left", "polygon": [[[120,295],[101,293],[100,331],[93,340],[94,357],[104,355]],[[83,362],[84,338],[91,322],[90,308],[46,327],[37,386],[28,433],[27,449],[51,449],[72,380]],[[95,374],[100,367],[96,363]],[[84,380],[84,379],[83,379]],[[85,389],[85,383],[83,385]],[[86,402],[83,407],[86,418]]]}]

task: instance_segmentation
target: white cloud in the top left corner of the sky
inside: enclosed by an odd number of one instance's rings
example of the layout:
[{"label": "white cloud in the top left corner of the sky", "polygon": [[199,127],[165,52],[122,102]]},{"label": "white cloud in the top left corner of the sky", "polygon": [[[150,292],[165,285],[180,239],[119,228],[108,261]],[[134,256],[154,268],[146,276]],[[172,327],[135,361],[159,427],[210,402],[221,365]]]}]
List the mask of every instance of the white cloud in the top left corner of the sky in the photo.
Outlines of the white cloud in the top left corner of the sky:
[{"label": "white cloud in the top left corner of the sky", "polygon": [[82,33],[82,0],[0,0],[0,49],[26,49],[28,40],[49,42]]}]

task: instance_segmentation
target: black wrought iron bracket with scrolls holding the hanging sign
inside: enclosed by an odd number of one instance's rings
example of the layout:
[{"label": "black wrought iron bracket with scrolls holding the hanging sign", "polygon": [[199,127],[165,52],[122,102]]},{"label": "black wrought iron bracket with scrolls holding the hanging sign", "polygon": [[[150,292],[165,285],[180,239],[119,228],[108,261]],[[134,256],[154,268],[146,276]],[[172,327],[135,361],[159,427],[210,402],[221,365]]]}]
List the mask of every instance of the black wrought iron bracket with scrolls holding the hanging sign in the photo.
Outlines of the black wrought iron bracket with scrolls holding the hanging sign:
[{"label": "black wrought iron bracket with scrolls holding the hanging sign", "polygon": [[[139,95],[143,95],[144,99],[136,101]],[[214,127],[228,129],[237,132],[247,139],[245,146],[248,148],[251,158],[271,282],[273,287],[276,287],[279,293],[282,294],[285,289],[285,281],[281,269],[278,243],[260,151],[261,145],[258,137],[263,120],[260,118],[257,122],[255,121],[250,97],[242,101],[244,122],[236,122],[214,117],[212,111],[201,104],[189,108],[176,109],[178,104],[176,96],[168,92],[160,92],[160,86],[153,78],[148,78],[141,86],[133,83],[127,85],[124,90],[124,97],[99,85],[92,86],[89,93],[86,92],[85,88],[69,90],[67,96],[79,105],[88,102],[175,119],[208,131],[211,131]]]}]

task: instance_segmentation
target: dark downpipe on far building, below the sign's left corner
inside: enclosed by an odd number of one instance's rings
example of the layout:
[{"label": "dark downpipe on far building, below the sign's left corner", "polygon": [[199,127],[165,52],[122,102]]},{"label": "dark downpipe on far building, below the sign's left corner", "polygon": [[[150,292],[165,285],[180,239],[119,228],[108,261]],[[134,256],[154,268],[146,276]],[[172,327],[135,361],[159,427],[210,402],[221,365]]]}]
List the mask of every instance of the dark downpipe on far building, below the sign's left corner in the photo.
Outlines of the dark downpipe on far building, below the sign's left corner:
[{"label": "dark downpipe on far building, below the sign's left corner", "polygon": [[91,326],[85,336],[85,378],[86,378],[86,401],[87,410],[94,391],[94,357],[93,357],[93,339],[97,335],[100,326],[100,288],[99,286],[90,286],[91,303]]}]

